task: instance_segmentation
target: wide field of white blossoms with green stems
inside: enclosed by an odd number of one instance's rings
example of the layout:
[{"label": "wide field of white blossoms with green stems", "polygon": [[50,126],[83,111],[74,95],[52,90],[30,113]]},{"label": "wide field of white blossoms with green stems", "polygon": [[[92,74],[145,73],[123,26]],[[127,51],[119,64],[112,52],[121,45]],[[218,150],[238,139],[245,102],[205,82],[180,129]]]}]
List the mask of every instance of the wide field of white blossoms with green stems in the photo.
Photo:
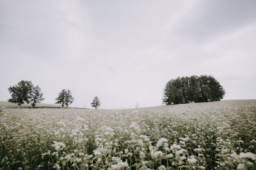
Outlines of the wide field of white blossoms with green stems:
[{"label": "wide field of white blossoms with green stems", "polygon": [[256,169],[256,100],[3,108],[0,169]]}]

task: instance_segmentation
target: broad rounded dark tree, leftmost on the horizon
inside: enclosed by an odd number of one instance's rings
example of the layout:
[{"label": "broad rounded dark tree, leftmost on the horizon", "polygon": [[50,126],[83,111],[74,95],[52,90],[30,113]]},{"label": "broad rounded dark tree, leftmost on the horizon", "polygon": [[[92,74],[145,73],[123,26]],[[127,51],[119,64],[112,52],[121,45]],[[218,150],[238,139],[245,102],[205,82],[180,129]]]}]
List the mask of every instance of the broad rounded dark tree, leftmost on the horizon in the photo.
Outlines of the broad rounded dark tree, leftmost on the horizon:
[{"label": "broad rounded dark tree, leftmost on the horizon", "polygon": [[17,103],[19,106],[24,103],[29,103],[31,99],[33,84],[31,81],[21,80],[17,85],[8,88],[11,98],[8,99],[10,103]]}]

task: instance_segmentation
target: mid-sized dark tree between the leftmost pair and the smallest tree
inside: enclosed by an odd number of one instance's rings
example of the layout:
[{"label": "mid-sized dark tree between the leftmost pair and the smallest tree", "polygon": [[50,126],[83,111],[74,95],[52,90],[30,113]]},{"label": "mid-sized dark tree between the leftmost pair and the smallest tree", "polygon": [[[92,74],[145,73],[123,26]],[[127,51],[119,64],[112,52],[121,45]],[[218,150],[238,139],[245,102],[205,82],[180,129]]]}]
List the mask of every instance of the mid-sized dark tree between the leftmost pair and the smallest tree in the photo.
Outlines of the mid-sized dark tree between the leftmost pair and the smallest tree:
[{"label": "mid-sized dark tree between the leftmost pair and the smallest tree", "polygon": [[63,108],[64,106],[66,106],[67,108],[68,105],[73,103],[74,97],[72,97],[72,94],[69,89],[68,90],[63,89],[59,93],[59,96],[56,98],[56,101],[57,101],[56,104],[61,104],[61,108]]}]

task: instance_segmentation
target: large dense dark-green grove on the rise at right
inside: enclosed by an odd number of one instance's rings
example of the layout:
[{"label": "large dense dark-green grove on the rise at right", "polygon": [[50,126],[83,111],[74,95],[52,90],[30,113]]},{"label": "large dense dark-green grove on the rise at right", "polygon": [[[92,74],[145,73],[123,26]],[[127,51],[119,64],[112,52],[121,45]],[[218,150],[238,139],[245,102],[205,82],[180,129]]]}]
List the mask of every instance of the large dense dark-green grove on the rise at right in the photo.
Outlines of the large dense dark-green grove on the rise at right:
[{"label": "large dense dark-green grove on the rise at right", "polygon": [[220,101],[224,95],[225,90],[213,76],[178,77],[166,83],[163,103],[170,105]]}]

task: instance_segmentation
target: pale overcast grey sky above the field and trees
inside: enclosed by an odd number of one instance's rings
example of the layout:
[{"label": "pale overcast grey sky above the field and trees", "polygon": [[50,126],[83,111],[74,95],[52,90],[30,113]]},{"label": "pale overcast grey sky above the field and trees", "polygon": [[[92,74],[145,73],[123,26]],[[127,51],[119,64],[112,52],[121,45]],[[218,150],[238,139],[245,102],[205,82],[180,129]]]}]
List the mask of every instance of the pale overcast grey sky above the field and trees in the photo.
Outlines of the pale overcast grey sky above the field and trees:
[{"label": "pale overcast grey sky above the field and trees", "polygon": [[161,105],[179,76],[212,75],[225,100],[256,99],[256,1],[0,0],[0,101],[32,81],[53,104]]}]

